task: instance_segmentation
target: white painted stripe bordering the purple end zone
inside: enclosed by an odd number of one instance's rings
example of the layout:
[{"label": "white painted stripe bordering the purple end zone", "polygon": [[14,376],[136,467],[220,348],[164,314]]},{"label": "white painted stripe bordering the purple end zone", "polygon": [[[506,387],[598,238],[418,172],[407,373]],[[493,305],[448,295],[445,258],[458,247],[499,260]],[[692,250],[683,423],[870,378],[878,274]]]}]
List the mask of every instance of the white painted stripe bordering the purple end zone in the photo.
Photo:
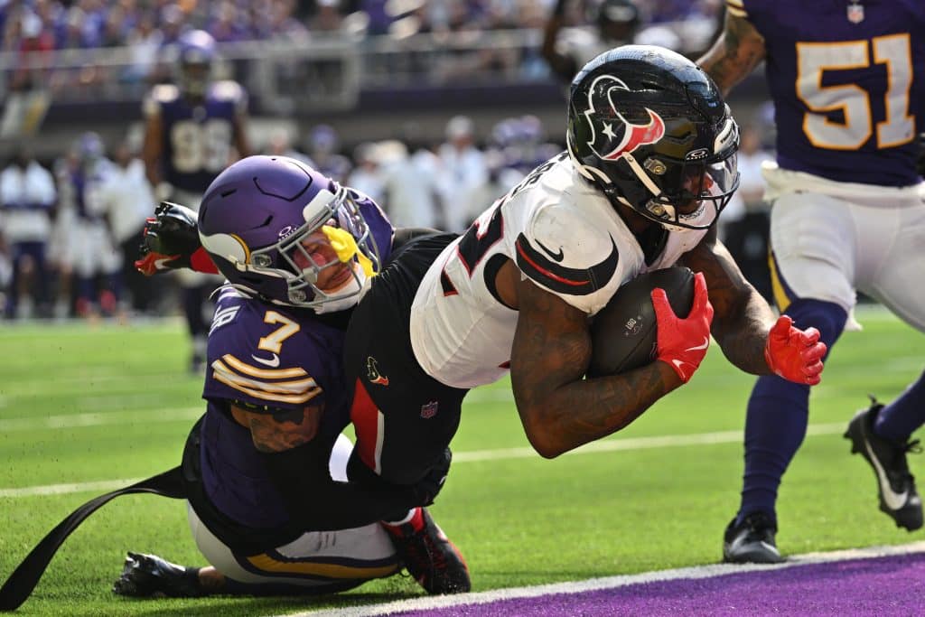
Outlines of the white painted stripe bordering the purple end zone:
[{"label": "white painted stripe bordering the purple end zone", "polygon": [[834,550],[832,552],[806,553],[788,557],[787,561],[773,565],[761,563],[714,563],[711,565],[677,568],[674,570],[660,570],[643,574],[622,574],[619,576],[591,578],[585,581],[574,581],[571,583],[511,587],[507,589],[460,594],[457,596],[425,596],[423,598],[401,599],[375,606],[290,612],[277,617],[372,617],[374,615],[388,615],[400,611],[427,611],[447,607],[486,604],[488,602],[498,602],[506,599],[537,598],[539,596],[549,596],[552,594],[582,593],[586,591],[596,591],[598,589],[612,589],[614,587],[636,585],[639,583],[654,583],[657,581],[668,581],[681,578],[710,578],[713,576],[722,576],[722,574],[740,574],[756,570],[767,572],[792,568],[796,565],[907,555],[923,551],[925,551],[925,541],[919,541],[895,547],[869,547],[867,549],[846,549]]}]

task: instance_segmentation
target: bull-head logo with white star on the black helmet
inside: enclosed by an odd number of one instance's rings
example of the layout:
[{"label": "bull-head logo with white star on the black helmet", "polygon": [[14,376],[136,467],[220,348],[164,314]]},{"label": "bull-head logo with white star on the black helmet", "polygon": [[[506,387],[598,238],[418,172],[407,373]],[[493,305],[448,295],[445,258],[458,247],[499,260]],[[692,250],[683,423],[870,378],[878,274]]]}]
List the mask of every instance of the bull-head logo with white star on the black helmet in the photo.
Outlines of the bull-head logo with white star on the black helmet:
[{"label": "bull-head logo with white star on the black helmet", "polygon": [[[665,121],[648,107],[646,107],[648,123],[633,124],[627,121],[617,111],[617,106],[613,104],[614,91],[620,90],[629,92],[630,89],[623,80],[612,75],[601,75],[592,82],[588,89],[588,109],[585,117],[588,126],[591,127],[591,140],[587,142],[587,145],[594,154],[605,161],[615,161],[632,153],[641,145],[659,142],[665,135]],[[607,101],[611,105],[612,121],[601,120],[599,116],[595,117],[600,112],[594,108],[593,101],[595,98],[599,100],[600,94],[606,94]],[[619,92],[616,94],[619,95]]]}]

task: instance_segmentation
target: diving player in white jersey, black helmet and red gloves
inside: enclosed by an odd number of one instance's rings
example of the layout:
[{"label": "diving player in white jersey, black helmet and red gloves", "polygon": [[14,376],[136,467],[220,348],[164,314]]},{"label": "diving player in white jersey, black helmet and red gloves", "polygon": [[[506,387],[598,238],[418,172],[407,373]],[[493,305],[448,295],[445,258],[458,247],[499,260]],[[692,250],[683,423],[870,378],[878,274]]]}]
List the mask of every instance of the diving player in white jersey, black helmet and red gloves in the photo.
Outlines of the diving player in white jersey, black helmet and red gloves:
[{"label": "diving player in white jersey, black helmet and red gloves", "polygon": [[[710,334],[746,372],[820,381],[819,333],[775,321],[716,239],[738,130],[712,80],[669,50],[627,45],[589,62],[570,98],[568,153],[461,237],[406,245],[355,309],[351,478],[416,481],[450,442],[467,390],[509,371],[526,436],[549,458],[685,384]],[[682,319],[653,293],[659,362],[586,379],[590,318],[623,283],[675,264],[697,272],[695,300]]]}]

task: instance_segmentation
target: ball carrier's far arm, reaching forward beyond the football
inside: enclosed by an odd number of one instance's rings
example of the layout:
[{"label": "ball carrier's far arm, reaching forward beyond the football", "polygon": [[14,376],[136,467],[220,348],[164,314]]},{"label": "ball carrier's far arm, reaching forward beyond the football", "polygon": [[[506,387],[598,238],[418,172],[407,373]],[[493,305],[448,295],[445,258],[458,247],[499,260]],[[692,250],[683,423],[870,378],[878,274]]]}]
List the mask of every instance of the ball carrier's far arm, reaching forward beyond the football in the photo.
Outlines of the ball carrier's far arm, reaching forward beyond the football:
[{"label": "ball carrier's far arm, reaching forward beyond the football", "polygon": [[679,263],[707,278],[714,310],[711,333],[729,362],[746,373],[769,375],[764,346],[776,317],[717,239],[716,227]]}]

